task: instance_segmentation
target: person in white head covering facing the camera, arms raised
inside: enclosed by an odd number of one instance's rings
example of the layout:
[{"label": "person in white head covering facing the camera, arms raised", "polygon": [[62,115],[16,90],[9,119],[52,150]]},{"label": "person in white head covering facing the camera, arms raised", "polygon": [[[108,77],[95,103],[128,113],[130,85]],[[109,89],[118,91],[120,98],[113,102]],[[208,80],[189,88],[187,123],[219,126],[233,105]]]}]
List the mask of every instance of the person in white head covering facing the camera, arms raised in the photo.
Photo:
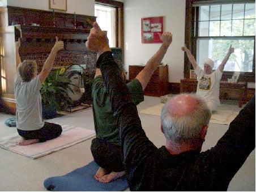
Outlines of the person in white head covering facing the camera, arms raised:
[{"label": "person in white head covering facing the camera, arms raised", "polygon": [[234,52],[234,48],[232,48],[232,46],[229,47],[227,55],[214,72],[212,72],[212,69],[214,69],[214,61],[212,61],[212,59],[207,58],[204,61],[204,70],[202,70],[197,65],[197,62],[190,50],[187,49],[186,46],[182,46],[181,49],[187,54],[187,57],[195,70],[195,74],[197,75],[197,95],[202,96],[203,99],[206,100],[211,111],[215,112],[217,110],[217,106],[220,104],[220,80],[225,64],[227,63],[229,56]]}]

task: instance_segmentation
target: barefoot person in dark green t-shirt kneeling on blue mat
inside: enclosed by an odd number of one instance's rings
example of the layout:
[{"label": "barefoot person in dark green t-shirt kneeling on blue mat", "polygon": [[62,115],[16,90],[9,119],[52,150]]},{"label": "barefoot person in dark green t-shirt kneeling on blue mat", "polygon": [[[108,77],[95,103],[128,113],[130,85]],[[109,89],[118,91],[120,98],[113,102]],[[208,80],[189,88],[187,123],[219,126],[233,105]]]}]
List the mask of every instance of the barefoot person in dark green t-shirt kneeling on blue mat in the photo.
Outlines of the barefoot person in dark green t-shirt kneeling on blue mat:
[{"label": "barefoot person in dark green t-shirt kneeling on blue mat", "polygon": [[[127,83],[133,95],[134,104],[138,105],[144,100],[143,90],[150,81],[151,75],[160,65],[169,45],[172,34],[164,32],[161,36],[163,44],[159,50],[148,60],[146,66],[130,83]],[[125,80],[125,74],[120,65],[120,72]],[[100,69],[96,69],[92,83],[92,105],[96,138],[92,140],[91,152],[95,162],[100,166],[95,174],[99,182],[110,182],[125,174],[121,159],[121,144],[117,129],[117,119],[111,110],[109,95],[104,87]]]}]

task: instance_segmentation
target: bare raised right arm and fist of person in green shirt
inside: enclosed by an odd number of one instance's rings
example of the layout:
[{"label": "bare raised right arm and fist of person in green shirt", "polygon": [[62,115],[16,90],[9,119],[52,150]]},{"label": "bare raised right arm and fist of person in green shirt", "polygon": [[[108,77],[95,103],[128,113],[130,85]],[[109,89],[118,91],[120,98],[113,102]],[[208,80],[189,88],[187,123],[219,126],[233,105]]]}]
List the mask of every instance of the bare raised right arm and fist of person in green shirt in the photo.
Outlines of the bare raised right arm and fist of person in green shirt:
[{"label": "bare raised right arm and fist of person in green shirt", "polygon": [[169,45],[172,43],[172,33],[164,32],[161,36],[161,40],[163,41],[163,44],[160,46],[159,50],[157,50],[157,52],[148,60],[144,69],[136,76],[136,79],[142,84],[143,90],[147,87],[153,72],[162,62]]}]

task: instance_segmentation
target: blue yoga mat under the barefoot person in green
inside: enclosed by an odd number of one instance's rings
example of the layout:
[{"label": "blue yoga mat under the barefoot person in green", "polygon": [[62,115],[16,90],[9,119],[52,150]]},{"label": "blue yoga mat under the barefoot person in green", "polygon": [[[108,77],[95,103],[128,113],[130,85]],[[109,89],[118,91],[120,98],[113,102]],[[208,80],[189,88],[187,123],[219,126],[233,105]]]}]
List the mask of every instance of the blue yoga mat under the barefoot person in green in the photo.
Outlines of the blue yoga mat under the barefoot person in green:
[{"label": "blue yoga mat under the barefoot person in green", "polygon": [[96,181],[98,169],[99,165],[92,161],[64,176],[47,178],[44,186],[50,191],[122,191],[129,187],[125,176],[106,184]]}]

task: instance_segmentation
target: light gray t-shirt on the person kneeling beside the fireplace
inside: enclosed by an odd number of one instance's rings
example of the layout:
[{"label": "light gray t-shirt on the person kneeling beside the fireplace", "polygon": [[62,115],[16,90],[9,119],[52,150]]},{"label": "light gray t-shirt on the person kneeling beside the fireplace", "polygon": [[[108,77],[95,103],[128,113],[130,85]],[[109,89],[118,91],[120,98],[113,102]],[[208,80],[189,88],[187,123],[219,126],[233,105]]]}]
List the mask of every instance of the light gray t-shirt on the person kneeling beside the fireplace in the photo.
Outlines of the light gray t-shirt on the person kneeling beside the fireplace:
[{"label": "light gray t-shirt on the person kneeling beside the fireplace", "polygon": [[16,99],[16,124],[17,129],[32,131],[44,126],[42,120],[41,89],[39,75],[30,82],[23,82],[16,73],[14,94]]}]

